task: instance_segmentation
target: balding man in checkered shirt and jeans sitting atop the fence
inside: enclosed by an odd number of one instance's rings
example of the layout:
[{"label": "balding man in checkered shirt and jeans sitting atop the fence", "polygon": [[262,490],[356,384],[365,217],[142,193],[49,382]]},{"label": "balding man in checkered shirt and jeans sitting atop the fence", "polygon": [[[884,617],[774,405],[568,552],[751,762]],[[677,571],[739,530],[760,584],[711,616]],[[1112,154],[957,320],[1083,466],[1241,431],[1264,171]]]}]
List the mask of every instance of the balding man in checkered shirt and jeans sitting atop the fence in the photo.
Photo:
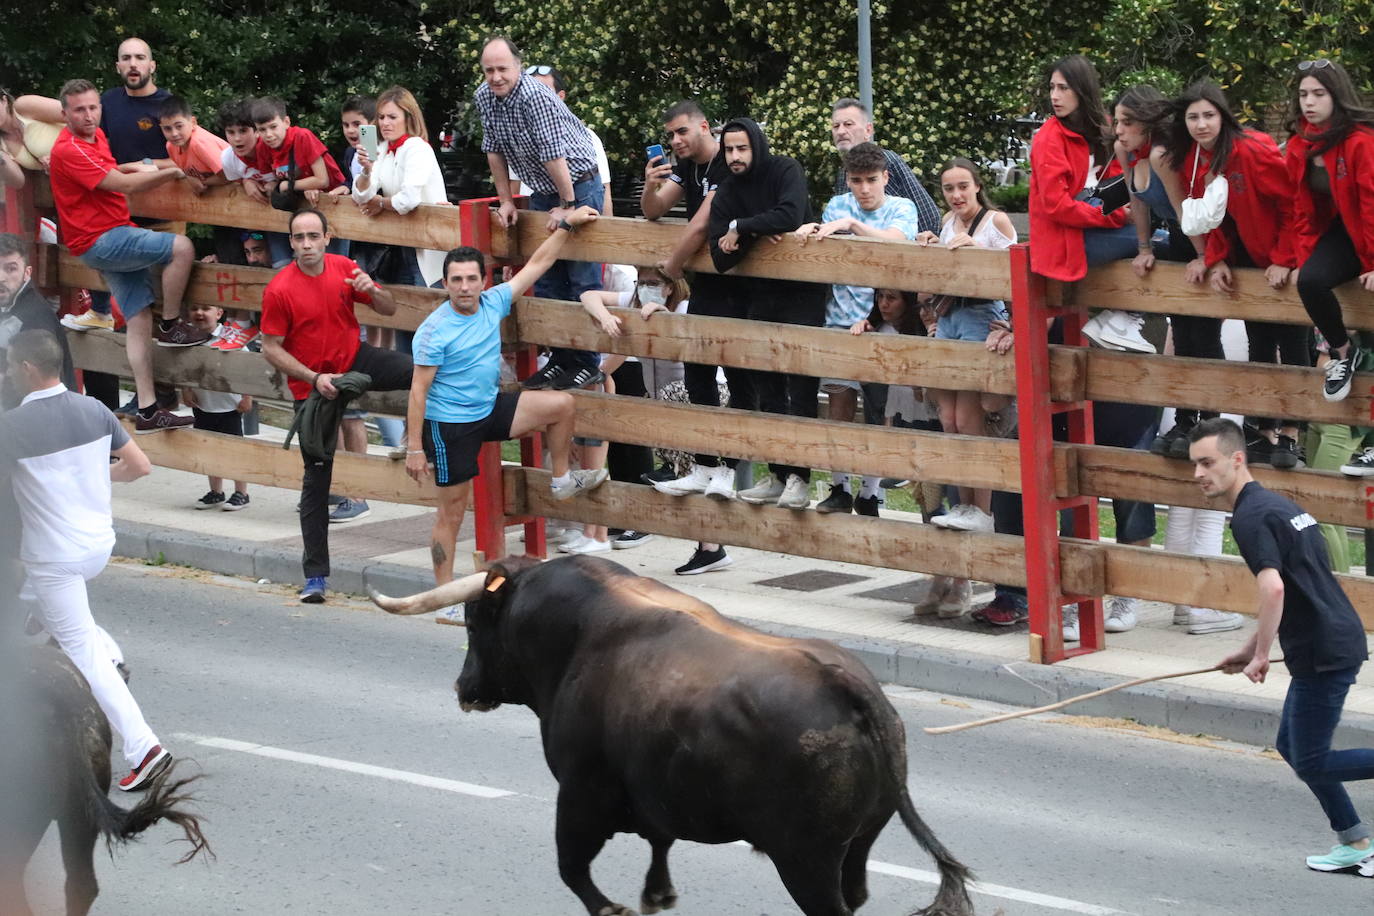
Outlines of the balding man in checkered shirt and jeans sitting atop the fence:
[{"label": "balding man in checkered shirt and jeans sitting atop the fence", "polygon": [[[504,36],[482,47],[482,76],[474,104],[482,118],[482,152],[502,199],[497,220],[515,224],[510,170],[534,194],[529,209],[548,213],[548,229],[580,206],[602,211],[605,190],[591,133],[552,89],[521,70],[521,52]],[[602,265],[559,261],[534,283],[534,295],[577,302],[602,288]],[[581,314],[581,312],[578,312]],[[555,347],[543,369],[525,379],[526,389],[573,389],[602,380],[599,357],[588,350]]]}]

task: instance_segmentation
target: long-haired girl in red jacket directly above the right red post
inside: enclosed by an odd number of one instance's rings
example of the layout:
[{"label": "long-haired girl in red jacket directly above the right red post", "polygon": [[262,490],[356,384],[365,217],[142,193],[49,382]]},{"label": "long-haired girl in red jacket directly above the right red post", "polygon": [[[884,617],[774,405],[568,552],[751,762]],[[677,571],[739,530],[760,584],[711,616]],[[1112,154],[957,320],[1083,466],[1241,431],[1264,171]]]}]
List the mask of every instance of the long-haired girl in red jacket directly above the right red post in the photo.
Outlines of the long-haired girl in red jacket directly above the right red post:
[{"label": "long-haired girl in red jacket directly above the right red post", "polygon": [[[1083,55],[1050,73],[1054,117],[1030,141],[1030,269],[1051,280],[1081,280],[1090,266],[1135,257],[1128,210],[1102,211],[1094,190],[1121,169],[1102,104],[1098,71]],[[1083,332],[1114,350],[1154,353],[1138,314],[1106,310]]]}]

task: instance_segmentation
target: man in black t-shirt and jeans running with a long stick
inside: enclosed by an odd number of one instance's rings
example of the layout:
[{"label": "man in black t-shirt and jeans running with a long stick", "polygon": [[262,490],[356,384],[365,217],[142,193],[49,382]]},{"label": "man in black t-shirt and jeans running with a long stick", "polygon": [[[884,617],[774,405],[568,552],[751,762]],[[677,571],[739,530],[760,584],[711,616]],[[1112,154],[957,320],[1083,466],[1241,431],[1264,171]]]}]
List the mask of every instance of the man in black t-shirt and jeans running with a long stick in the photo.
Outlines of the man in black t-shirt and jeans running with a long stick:
[{"label": "man in black t-shirt and jeans running with a long stick", "polygon": [[1275,747],[1316,795],[1338,840],[1330,853],[1308,856],[1307,867],[1374,878],[1371,831],[1344,786],[1374,779],[1374,748],[1331,750],[1345,695],[1369,658],[1364,626],[1331,574],[1316,519],[1250,477],[1241,427],[1205,420],[1189,444],[1202,493],[1232,507],[1231,531],[1260,591],[1259,628],[1221,659],[1221,670],[1263,684],[1278,636],[1292,683]]}]

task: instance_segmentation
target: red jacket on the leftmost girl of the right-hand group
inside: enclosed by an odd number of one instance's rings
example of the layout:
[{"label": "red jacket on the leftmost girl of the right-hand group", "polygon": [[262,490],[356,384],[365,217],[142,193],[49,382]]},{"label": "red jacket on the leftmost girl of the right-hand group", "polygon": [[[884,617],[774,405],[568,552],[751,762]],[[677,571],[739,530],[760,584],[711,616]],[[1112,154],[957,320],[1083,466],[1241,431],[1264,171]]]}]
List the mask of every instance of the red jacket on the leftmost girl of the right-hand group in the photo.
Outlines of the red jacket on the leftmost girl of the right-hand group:
[{"label": "red jacket on the leftmost girl of the right-hand group", "polygon": [[[1102,213],[1073,198],[1088,180],[1088,141],[1050,118],[1030,141],[1030,269],[1051,280],[1081,280],[1088,272],[1084,229],[1125,225],[1127,207]],[[1116,157],[1101,163],[1102,179],[1121,170]]]}]

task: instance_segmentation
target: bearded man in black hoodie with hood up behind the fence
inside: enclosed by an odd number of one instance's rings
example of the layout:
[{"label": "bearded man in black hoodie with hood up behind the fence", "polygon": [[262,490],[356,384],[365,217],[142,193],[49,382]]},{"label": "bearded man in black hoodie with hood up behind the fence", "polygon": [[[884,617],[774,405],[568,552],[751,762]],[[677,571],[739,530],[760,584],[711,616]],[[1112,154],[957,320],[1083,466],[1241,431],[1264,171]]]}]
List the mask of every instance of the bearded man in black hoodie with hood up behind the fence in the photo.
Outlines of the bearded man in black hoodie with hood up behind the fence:
[{"label": "bearded man in black hoodie with hood up behind the fence", "polygon": [[[721,155],[730,176],[710,202],[708,240],[710,260],[730,272],[760,239],[791,232],[813,221],[801,165],[768,151],[763,129],[749,118],[730,121],[720,135]],[[800,280],[741,277],[732,294],[742,314],[760,321],[820,327],[826,317],[826,287]],[[753,372],[758,408],[768,413],[816,416],[819,380],[783,372]],[[746,503],[775,503],[804,509],[811,504],[811,471],[793,464],[769,464],[772,474],[739,492]]]}]

